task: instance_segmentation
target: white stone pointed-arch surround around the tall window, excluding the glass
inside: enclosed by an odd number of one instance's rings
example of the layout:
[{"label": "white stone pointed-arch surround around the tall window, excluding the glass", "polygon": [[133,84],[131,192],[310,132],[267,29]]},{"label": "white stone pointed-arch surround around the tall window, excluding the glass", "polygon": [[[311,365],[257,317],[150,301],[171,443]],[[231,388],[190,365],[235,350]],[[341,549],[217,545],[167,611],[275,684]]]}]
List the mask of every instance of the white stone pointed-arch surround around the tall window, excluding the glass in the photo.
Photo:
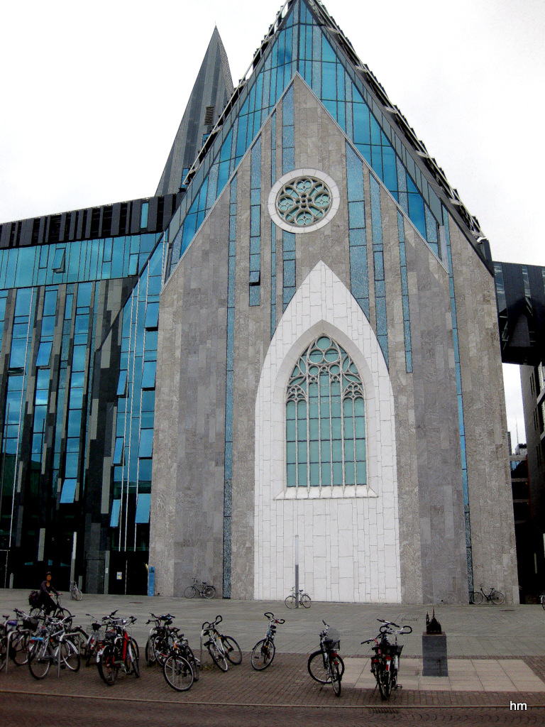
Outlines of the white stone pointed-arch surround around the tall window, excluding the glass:
[{"label": "white stone pointed-arch surround around the tall window, excluding the glass", "polygon": [[[363,381],[366,494],[309,499],[286,491],[286,385],[299,356],[320,333],[350,354]],[[323,261],[296,291],[270,342],[257,390],[255,454],[254,597],[277,600],[288,594],[297,535],[299,582],[315,600],[400,601],[392,385],[369,321]]]}]

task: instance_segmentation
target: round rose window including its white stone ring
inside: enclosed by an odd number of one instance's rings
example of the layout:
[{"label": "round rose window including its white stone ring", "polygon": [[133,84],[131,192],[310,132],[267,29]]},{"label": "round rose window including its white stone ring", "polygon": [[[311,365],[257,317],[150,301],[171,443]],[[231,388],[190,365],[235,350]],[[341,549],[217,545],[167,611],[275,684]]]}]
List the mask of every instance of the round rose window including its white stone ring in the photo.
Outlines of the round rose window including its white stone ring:
[{"label": "round rose window including its white stone ring", "polygon": [[339,189],[318,169],[294,169],[270,190],[268,208],[283,230],[305,233],[326,225],[339,209]]}]

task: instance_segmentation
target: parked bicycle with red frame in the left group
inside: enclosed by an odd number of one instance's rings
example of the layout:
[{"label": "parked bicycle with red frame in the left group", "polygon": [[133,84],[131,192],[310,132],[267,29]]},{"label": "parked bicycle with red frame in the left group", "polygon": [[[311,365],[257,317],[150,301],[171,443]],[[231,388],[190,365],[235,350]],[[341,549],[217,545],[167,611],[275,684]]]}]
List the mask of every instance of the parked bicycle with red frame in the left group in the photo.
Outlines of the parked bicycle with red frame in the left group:
[{"label": "parked bicycle with red frame in the left group", "polygon": [[108,686],[116,682],[120,669],[125,674],[140,677],[138,644],[126,630],[126,626],[134,624],[136,619],[134,616],[122,619],[116,613],[117,609],[106,619],[110,629],[106,631],[104,647],[97,654],[98,673]]}]

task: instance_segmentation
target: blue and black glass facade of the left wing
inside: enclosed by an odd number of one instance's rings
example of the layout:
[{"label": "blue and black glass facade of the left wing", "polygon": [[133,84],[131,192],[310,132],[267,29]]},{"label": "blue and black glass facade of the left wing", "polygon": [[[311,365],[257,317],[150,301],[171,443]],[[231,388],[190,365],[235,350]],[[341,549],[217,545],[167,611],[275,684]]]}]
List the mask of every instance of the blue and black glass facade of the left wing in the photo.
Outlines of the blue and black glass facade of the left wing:
[{"label": "blue and black glass facade of the left wing", "polygon": [[148,548],[160,238],[0,250],[0,587],[89,587],[93,527],[102,558]]}]

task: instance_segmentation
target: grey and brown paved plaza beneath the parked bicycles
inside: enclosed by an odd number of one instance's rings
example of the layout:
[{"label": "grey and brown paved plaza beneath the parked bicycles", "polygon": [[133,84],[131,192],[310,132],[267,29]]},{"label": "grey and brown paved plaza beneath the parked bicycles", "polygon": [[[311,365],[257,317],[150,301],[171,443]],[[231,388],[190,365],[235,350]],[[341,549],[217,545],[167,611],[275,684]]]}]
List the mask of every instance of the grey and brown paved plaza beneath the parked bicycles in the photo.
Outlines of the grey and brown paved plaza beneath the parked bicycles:
[{"label": "grey and brown paved plaza beneath the parked bicycles", "polygon": [[[345,662],[342,697],[336,704],[346,707],[379,706],[369,664],[369,648],[360,642],[376,635],[377,618],[409,624],[411,635],[400,638],[403,655],[400,678],[403,690],[392,694],[389,706],[397,707],[506,707],[525,703],[545,710],[545,611],[541,606],[436,606],[448,640],[448,676],[422,675],[422,632],[427,606],[352,603],[312,603],[309,609],[291,611],[280,602],[205,601],[202,598],[147,598],[143,596],[84,595],[80,603],[66,595],[62,599],[75,614],[74,623],[86,626],[89,616],[103,616],[117,610],[124,616],[136,616],[132,634],[141,647],[142,678],[120,679],[113,689],[102,684],[93,668],[81,668],[78,674],[52,670],[47,679],[33,680],[26,667],[9,663],[0,675],[0,694],[44,694],[84,696],[86,699],[132,699],[163,703],[201,704],[284,704],[318,706],[334,699],[329,686],[313,682],[306,668],[307,655],[318,648],[322,619],[341,632],[341,654]],[[0,590],[0,613],[28,605],[27,590]],[[266,672],[254,672],[247,654],[265,635],[265,611],[286,619],[278,627],[275,661]],[[240,667],[230,667],[223,674],[204,651],[201,680],[184,694],[166,686],[157,667],[143,663],[143,648],[148,638],[146,621],[150,612],[171,613],[182,628],[196,654],[200,650],[203,621],[221,614],[223,632],[233,635],[245,654]],[[545,712],[544,712],[545,714]]]}]

